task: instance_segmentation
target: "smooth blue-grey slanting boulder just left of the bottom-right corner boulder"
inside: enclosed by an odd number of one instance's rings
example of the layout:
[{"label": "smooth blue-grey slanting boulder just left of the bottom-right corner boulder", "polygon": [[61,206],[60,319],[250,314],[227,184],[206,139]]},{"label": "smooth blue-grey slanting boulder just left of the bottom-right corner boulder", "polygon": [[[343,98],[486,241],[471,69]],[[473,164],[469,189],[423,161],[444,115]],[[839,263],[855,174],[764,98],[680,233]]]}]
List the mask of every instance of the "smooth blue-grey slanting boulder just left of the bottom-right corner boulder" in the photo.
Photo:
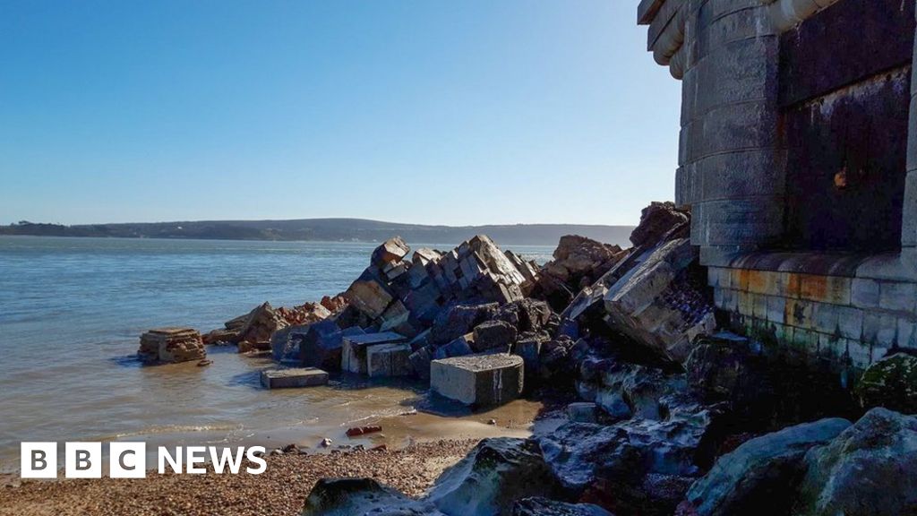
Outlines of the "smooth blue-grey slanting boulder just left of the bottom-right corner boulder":
[{"label": "smooth blue-grey slanting boulder just left of the bottom-right corner boulder", "polygon": [[850,426],[830,419],[791,426],[743,443],[720,457],[713,469],[688,492],[695,514],[756,514],[767,507],[789,514],[805,468],[803,458],[813,446],[829,443]]}]

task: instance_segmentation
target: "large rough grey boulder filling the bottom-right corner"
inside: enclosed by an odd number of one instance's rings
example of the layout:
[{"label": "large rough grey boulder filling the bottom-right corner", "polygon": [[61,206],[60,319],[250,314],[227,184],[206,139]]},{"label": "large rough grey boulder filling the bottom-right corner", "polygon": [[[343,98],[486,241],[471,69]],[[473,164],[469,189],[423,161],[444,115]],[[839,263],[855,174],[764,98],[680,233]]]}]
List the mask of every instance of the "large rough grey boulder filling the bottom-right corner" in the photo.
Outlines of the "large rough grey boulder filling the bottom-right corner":
[{"label": "large rough grey boulder filling the bottom-right corner", "polygon": [[917,514],[917,417],[871,409],[805,456],[793,514]]}]

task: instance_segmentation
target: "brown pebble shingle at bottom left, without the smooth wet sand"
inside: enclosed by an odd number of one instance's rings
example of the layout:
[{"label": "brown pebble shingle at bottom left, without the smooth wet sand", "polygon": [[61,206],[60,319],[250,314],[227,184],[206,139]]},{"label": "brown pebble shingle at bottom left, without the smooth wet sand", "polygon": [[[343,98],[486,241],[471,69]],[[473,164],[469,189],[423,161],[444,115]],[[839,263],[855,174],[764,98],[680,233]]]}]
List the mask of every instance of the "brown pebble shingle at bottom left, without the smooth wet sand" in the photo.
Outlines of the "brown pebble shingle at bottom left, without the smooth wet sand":
[{"label": "brown pebble shingle at bottom left, without the smooth wet sand", "polygon": [[375,477],[404,493],[420,495],[476,443],[437,441],[399,450],[274,455],[266,457],[268,467],[262,475],[209,472],[153,474],[136,480],[23,481],[0,488],[0,515],[294,515],[321,477]]}]

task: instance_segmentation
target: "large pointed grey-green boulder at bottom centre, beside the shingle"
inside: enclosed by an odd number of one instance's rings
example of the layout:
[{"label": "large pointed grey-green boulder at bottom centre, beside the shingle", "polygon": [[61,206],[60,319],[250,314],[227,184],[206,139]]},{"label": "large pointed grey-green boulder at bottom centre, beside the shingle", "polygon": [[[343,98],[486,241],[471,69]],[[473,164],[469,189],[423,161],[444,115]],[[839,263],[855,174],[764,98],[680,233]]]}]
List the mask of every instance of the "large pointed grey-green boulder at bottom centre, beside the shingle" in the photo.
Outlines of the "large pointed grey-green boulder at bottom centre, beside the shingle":
[{"label": "large pointed grey-green boulder at bottom centre, beside the shingle", "polygon": [[533,440],[485,439],[436,479],[425,500],[448,516],[508,515],[517,499],[559,494]]}]

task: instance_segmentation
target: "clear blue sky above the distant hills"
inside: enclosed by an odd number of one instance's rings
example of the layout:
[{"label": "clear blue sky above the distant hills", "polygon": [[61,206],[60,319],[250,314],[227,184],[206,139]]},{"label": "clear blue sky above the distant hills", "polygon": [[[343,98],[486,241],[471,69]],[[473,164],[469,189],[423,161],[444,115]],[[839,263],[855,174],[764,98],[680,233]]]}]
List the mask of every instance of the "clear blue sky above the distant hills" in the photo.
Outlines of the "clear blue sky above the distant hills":
[{"label": "clear blue sky above the distant hills", "polygon": [[636,5],[0,0],[0,223],[634,223],[680,100]]}]

